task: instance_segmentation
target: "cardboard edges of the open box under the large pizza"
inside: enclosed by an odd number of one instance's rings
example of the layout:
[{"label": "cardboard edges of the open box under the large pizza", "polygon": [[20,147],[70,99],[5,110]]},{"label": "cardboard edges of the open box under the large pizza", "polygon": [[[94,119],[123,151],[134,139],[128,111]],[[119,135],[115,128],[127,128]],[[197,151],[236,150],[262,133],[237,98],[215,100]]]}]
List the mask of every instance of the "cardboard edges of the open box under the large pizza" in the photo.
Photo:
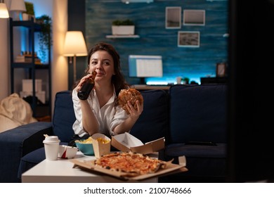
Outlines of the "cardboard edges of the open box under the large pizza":
[{"label": "cardboard edges of the open box under the large pizza", "polygon": [[72,159],[70,160],[72,163],[74,163],[73,168],[79,168],[81,170],[85,170],[86,172],[91,172],[91,173],[99,173],[99,174],[107,174],[111,177],[116,177],[118,179],[122,180],[136,180],[136,181],[141,181],[143,179],[149,179],[152,177],[160,177],[160,176],[165,176],[168,174],[175,174],[175,173],[180,173],[180,172],[187,172],[188,168],[185,167],[186,165],[186,160],[185,156],[181,157],[181,162],[180,165],[171,163],[169,161],[167,167],[162,168],[157,170],[157,172],[150,173],[150,174],[141,174],[141,175],[136,175],[132,176],[131,174],[127,172],[121,172],[117,170],[110,170],[106,169],[103,167],[96,166],[94,162],[96,160],[81,160],[81,159]]}]

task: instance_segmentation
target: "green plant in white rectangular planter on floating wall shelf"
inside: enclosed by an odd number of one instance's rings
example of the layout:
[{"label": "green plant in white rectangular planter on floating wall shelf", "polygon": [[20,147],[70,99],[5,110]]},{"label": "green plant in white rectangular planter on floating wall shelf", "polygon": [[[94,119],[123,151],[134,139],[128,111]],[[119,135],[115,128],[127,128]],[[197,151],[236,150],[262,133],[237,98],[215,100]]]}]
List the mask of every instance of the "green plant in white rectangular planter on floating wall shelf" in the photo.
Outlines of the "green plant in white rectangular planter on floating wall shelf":
[{"label": "green plant in white rectangular planter on floating wall shelf", "polygon": [[135,26],[132,20],[113,20],[112,34],[113,35],[133,35]]}]

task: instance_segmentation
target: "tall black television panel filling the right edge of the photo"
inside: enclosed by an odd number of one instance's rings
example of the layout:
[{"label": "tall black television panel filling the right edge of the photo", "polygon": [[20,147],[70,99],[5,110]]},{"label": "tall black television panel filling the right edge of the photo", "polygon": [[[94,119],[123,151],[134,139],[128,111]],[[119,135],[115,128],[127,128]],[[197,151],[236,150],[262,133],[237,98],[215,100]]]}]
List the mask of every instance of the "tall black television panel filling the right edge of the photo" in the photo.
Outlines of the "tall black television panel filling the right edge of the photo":
[{"label": "tall black television panel filling the right edge of the photo", "polygon": [[273,182],[274,3],[229,0],[227,182]]}]

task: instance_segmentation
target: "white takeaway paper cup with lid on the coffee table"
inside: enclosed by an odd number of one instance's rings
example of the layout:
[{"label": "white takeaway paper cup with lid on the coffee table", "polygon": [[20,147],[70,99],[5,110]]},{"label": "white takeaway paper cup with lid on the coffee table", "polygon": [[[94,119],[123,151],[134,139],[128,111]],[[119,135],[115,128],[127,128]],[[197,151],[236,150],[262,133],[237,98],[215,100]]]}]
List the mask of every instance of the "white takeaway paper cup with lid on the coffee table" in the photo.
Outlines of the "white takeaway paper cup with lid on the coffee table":
[{"label": "white takeaway paper cup with lid on the coffee table", "polygon": [[46,153],[46,160],[57,160],[60,140],[58,136],[46,136],[43,141]]}]

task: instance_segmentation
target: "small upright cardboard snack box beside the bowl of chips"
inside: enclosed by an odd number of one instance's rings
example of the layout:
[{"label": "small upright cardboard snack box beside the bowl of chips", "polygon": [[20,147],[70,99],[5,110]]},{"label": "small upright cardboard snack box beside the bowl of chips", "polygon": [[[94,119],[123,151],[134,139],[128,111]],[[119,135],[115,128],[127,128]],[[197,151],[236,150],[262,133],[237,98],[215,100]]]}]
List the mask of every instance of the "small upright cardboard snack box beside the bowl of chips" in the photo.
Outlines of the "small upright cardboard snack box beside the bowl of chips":
[{"label": "small upright cardboard snack box beside the bowl of chips", "polygon": [[[98,141],[98,138],[105,139],[106,141],[109,141],[108,143],[101,143]],[[104,134],[93,134],[91,136],[92,146],[94,150],[94,155],[96,158],[100,158],[102,155],[107,155],[110,153],[110,138],[105,136]]]}]

